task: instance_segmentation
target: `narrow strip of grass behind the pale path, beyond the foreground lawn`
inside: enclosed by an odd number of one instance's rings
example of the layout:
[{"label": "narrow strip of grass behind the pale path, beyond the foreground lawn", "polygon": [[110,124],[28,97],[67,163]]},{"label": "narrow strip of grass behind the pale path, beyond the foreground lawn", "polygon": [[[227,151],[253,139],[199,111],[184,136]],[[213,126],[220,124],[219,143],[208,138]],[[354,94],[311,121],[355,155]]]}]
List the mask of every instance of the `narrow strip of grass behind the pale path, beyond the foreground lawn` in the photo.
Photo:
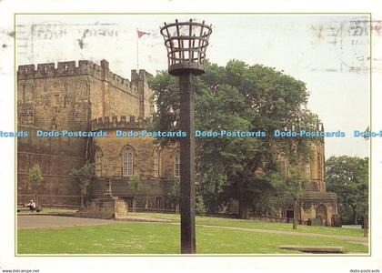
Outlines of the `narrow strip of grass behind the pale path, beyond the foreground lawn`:
[{"label": "narrow strip of grass behind the pale path, beyond the foreground lawn", "polygon": [[[136,213],[136,216],[156,217],[174,222],[179,222],[180,216],[175,214],[160,214],[160,213]],[[346,227],[315,227],[298,225],[297,229],[292,229],[292,224],[263,222],[256,220],[242,220],[234,218],[219,218],[219,217],[196,217],[196,225],[220,226],[220,227],[244,227],[267,230],[287,230],[292,232],[302,233],[317,233],[331,234],[340,236],[356,236],[363,237],[364,231],[361,228],[346,228]]]}]

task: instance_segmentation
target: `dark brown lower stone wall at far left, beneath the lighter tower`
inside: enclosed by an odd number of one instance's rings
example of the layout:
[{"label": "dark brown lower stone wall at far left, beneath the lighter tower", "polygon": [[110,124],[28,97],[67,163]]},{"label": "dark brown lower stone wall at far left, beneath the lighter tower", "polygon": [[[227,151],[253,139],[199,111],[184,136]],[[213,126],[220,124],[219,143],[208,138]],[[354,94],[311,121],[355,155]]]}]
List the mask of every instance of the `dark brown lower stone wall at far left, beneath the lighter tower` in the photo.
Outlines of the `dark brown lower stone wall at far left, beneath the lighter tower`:
[{"label": "dark brown lower stone wall at far left, beneath the lighter tower", "polygon": [[[38,196],[38,205],[64,206],[81,204],[78,178],[70,170],[85,163],[86,138],[37,137],[35,127],[18,126],[28,137],[17,138],[17,203]],[[44,180],[40,187],[29,183],[29,170],[38,164]]]}]

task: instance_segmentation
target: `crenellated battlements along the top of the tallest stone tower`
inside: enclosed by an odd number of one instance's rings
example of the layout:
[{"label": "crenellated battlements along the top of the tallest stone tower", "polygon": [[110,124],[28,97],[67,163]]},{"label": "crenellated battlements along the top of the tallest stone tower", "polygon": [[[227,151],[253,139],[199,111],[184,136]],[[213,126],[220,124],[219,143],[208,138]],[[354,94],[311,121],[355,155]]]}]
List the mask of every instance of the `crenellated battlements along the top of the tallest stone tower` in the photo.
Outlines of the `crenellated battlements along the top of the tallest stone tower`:
[{"label": "crenellated battlements along the top of the tallest stone tower", "polygon": [[89,75],[95,78],[106,81],[112,86],[116,86],[119,89],[126,92],[133,93],[139,96],[138,82],[145,82],[151,74],[147,73],[144,69],[131,71],[131,81],[116,75],[109,70],[109,63],[106,60],[101,61],[101,65],[97,65],[91,61],[80,60],[78,66],[75,65],[75,61],[58,62],[47,64],[26,65],[18,66],[17,80],[25,79],[40,79],[55,76],[83,76]]}]

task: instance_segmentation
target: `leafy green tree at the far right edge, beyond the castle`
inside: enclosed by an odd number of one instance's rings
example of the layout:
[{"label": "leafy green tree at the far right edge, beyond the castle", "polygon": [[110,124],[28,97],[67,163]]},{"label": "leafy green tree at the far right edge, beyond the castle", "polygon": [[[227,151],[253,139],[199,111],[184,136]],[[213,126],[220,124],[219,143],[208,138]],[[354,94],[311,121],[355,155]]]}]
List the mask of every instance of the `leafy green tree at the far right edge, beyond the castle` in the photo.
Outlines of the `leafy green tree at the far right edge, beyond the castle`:
[{"label": "leafy green tree at the far right edge, beyond the castle", "polygon": [[337,193],[338,213],[345,222],[364,222],[368,213],[368,158],[329,157],[326,162],[327,190]]}]

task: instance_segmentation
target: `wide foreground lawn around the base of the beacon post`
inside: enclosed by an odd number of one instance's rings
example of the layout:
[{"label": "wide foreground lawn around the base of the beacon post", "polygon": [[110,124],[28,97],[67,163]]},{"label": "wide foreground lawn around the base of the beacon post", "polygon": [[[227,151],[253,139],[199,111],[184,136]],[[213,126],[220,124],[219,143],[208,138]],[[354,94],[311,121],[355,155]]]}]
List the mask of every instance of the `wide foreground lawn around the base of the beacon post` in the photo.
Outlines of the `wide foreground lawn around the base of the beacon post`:
[{"label": "wide foreground lawn around the base of the beacon post", "polygon": [[[19,229],[18,254],[179,254],[179,226],[126,222],[102,226]],[[342,246],[367,252],[361,244],[331,238],[264,234],[216,227],[196,227],[198,254],[297,253],[278,245]]]}]

